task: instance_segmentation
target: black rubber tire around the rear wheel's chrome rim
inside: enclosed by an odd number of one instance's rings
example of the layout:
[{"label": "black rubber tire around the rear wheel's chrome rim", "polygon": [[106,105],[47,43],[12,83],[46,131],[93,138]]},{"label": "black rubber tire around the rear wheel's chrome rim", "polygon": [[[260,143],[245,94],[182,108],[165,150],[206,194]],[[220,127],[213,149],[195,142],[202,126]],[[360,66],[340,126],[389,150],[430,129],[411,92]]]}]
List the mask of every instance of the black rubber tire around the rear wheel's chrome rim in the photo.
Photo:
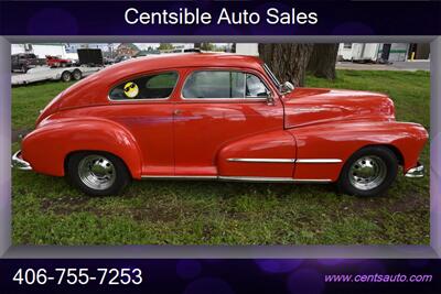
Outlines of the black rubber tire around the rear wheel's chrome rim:
[{"label": "black rubber tire around the rear wheel's chrome rim", "polygon": [[[112,175],[115,176],[115,179],[106,188],[94,188],[86,184],[87,181],[85,182],[82,179],[80,166],[84,166],[84,161],[87,161],[93,156],[104,157],[112,165]],[[67,160],[66,170],[69,182],[90,196],[117,195],[129,184],[131,179],[126,164],[119,157],[107,152],[90,151],[74,153]]]}]

